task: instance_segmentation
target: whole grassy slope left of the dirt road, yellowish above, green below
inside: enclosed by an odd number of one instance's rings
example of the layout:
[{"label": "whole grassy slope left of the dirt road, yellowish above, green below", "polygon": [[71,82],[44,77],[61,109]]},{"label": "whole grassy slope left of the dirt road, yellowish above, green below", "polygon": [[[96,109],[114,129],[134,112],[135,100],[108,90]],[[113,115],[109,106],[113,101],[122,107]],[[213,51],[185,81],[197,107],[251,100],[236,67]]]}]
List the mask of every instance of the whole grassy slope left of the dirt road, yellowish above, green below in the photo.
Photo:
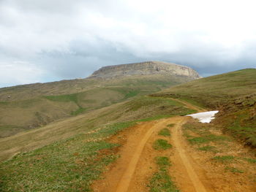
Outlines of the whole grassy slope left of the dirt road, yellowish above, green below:
[{"label": "whole grassy slope left of the dirt road, yellowish above, green below", "polygon": [[0,191],[91,191],[118,144],[105,139],[145,120],[195,112],[177,101],[140,96],[0,139]]}]

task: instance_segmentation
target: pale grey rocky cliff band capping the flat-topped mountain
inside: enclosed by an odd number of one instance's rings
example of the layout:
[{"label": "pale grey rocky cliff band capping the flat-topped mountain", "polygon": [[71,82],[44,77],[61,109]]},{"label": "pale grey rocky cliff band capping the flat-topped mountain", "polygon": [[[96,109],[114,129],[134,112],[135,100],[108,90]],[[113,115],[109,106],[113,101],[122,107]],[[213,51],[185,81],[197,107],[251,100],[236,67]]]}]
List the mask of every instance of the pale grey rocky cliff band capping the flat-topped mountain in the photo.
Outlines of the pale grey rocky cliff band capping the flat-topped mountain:
[{"label": "pale grey rocky cliff band capping the flat-topped mountain", "polygon": [[150,74],[184,76],[189,77],[192,80],[200,78],[199,74],[194,69],[191,69],[187,66],[181,66],[160,61],[148,61],[135,64],[104,66],[91,74],[89,78],[112,79],[116,77]]}]

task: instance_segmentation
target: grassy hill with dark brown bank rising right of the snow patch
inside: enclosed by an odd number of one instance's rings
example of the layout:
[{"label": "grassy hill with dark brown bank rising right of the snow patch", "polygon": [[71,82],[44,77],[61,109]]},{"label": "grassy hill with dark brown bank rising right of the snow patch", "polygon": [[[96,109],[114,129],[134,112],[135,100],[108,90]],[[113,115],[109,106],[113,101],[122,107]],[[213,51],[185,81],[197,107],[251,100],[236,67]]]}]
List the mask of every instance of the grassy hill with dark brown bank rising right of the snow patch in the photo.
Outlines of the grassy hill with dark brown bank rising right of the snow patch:
[{"label": "grassy hill with dark brown bank rising right of the snow patch", "polygon": [[246,145],[256,147],[256,69],[187,82],[154,94],[219,110],[214,121]]}]

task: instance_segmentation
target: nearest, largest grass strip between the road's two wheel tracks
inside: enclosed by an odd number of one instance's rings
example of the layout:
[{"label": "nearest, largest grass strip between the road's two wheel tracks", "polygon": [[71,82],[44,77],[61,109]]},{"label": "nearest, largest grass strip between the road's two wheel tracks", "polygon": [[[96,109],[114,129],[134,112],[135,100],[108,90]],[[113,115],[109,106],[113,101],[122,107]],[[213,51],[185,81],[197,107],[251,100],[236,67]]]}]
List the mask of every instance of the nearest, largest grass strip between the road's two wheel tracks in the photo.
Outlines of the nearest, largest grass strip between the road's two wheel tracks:
[{"label": "nearest, largest grass strip between the road's two wheel tracks", "polygon": [[178,188],[173,183],[168,169],[170,160],[165,156],[160,156],[155,159],[158,166],[158,171],[153,174],[148,184],[150,192],[178,192]]}]

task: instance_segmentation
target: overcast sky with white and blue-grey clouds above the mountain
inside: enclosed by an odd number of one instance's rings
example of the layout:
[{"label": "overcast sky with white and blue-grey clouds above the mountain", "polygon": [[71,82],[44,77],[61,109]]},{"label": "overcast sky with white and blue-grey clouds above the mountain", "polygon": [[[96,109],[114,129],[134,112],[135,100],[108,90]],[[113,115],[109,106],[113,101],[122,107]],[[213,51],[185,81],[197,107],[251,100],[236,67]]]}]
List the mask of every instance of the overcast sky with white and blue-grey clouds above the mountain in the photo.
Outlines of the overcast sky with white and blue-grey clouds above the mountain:
[{"label": "overcast sky with white and blue-grey clouds above the mountain", "polygon": [[0,0],[0,87],[170,61],[208,76],[256,66],[249,0]]}]

